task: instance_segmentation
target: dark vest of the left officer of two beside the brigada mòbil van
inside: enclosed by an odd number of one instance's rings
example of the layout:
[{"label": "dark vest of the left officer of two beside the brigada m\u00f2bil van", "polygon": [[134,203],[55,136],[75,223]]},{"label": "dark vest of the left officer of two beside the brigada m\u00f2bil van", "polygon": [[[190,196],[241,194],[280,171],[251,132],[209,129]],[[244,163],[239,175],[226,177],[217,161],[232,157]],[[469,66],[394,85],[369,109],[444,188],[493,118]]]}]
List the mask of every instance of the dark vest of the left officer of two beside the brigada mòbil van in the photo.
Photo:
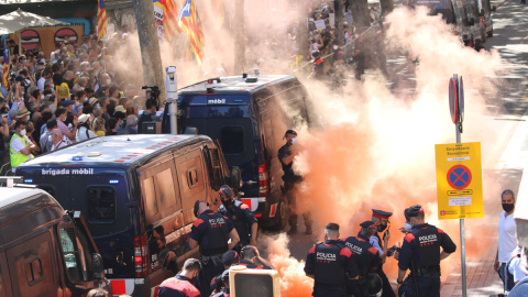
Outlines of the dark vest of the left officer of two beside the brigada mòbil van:
[{"label": "dark vest of the left officer of two beside the brigada m\u00f2bil van", "polygon": [[200,219],[207,224],[206,233],[201,240],[202,255],[209,256],[226,253],[229,240],[227,219],[219,213],[202,213]]}]

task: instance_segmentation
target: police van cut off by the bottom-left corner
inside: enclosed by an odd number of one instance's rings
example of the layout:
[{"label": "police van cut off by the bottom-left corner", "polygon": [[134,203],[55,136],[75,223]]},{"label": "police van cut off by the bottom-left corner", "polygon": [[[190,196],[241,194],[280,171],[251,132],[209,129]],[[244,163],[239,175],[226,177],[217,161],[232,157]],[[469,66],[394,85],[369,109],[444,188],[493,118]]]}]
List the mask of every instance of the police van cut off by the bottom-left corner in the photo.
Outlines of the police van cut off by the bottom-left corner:
[{"label": "police van cut off by the bottom-left corner", "polygon": [[79,212],[36,188],[0,187],[0,296],[86,296],[111,292]]}]

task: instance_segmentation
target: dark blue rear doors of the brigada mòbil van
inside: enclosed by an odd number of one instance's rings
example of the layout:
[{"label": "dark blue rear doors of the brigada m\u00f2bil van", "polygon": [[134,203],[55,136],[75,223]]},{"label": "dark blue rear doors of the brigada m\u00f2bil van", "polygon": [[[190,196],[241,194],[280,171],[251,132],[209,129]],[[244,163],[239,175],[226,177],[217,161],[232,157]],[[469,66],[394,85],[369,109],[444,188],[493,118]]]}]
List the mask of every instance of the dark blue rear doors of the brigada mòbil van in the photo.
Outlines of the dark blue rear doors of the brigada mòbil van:
[{"label": "dark blue rear doors of the brigada m\u00f2bil van", "polygon": [[127,172],[120,168],[20,167],[28,184],[50,193],[66,210],[82,212],[108,278],[134,277],[134,221]]}]

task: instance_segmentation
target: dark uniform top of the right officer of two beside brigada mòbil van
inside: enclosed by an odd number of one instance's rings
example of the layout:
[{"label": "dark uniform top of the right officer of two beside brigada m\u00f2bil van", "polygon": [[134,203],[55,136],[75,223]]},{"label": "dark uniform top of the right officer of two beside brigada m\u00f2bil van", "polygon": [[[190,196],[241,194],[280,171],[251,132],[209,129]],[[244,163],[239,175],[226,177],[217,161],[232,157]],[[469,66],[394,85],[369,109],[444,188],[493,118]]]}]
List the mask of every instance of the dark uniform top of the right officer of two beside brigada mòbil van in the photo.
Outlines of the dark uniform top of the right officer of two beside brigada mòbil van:
[{"label": "dark uniform top of the right officer of two beside brigada m\u00f2bil van", "polygon": [[233,222],[234,229],[240,237],[239,245],[244,246],[250,244],[251,226],[257,220],[250,207],[242,201],[234,201],[231,206],[220,206],[218,212],[228,217]]}]

